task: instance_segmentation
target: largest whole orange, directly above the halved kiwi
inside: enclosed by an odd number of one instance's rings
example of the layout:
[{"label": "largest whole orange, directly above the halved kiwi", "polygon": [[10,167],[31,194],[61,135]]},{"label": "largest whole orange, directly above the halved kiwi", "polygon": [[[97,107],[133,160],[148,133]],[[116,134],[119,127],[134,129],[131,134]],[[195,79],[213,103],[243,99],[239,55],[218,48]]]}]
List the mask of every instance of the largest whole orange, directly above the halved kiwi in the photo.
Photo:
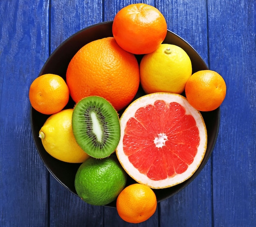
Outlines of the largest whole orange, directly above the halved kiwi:
[{"label": "largest whole orange, directly above the halved kiwi", "polygon": [[67,85],[75,102],[101,96],[119,111],[139,88],[139,65],[135,55],[124,51],[113,37],[83,46],[67,68]]}]

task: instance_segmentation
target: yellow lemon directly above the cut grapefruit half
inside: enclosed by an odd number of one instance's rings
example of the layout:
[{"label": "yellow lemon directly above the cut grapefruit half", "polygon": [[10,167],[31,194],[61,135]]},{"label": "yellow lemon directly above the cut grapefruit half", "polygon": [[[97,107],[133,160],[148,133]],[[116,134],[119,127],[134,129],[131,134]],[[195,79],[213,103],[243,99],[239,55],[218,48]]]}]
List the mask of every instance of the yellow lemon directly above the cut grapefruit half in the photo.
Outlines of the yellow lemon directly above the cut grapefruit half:
[{"label": "yellow lemon directly above the cut grapefruit half", "polygon": [[139,67],[141,86],[146,93],[180,94],[192,74],[189,56],[172,44],[161,44],[154,52],[145,54]]}]

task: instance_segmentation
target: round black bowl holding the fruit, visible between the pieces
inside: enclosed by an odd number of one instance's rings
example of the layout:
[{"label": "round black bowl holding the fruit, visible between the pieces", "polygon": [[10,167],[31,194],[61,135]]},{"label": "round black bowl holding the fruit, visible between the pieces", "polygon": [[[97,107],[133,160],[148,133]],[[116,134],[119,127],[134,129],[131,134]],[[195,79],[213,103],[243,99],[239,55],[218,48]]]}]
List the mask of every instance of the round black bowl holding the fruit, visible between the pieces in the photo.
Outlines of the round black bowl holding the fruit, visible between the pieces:
[{"label": "round black bowl holding the fruit, visible between the pieces", "polygon": [[[82,29],[81,31],[75,33],[73,36],[65,40],[65,42],[63,42],[52,53],[52,55],[45,62],[45,65],[43,66],[43,69],[40,71],[39,76],[45,73],[54,73],[59,76],[62,76],[65,79],[67,66],[70,60],[72,59],[72,57],[81,47],[83,47],[85,44],[93,40],[97,40],[97,39],[101,39],[109,36],[113,36],[112,22],[102,22],[102,23],[87,27],[85,29]],[[204,63],[204,61],[199,56],[199,54],[195,51],[195,49],[193,49],[193,47],[191,47],[189,43],[187,43],[185,40],[177,36],[175,33],[168,31],[166,38],[164,40],[164,43],[170,43],[170,44],[180,46],[182,49],[186,51],[186,53],[189,55],[192,62],[193,73],[199,70],[208,69],[207,65]],[[141,59],[141,56],[136,56],[136,57],[139,62]],[[139,90],[135,96],[135,99],[144,94],[145,94],[144,91],[141,89],[141,87],[139,87]],[[70,98],[70,101],[65,108],[73,108],[73,107],[74,107],[74,102]],[[121,115],[122,111],[120,111],[119,114]],[[195,177],[200,173],[204,165],[207,163],[209,157],[211,156],[211,153],[213,151],[213,148],[218,136],[218,129],[219,129],[219,123],[220,123],[220,108],[210,112],[202,112],[202,116],[204,118],[206,128],[207,128],[208,145],[207,145],[206,154],[204,156],[204,159],[202,160],[201,165],[199,166],[197,171],[195,171],[193,176],[191,176],[191,178],[180,183],[179,185],[166,188],[166,189],[154,189],[158,202],[173,196],[177,192],[184,189],[184,187],[189,185],[189,183],[192,182],[195,179]],[[44,115],[42,113],[39,113],[38,111],[36,111],[31,107],[31,128],[32,128],[34,141],[38,149],[38,153],[42,158],[45,166],[47,167],[49,172],[52,174],[52,176],[54,176],[54,178],[56,178],[56,180],[58,180],[58,182],[60,182],[61,185],[66,187],[72,193],[76,194],[76,190],[74,187],[74,178],[75,178],[76,171],[81,164],[71,164],[71,163],[62,162],[53,158],[45,151],[42,145],[41,139],[38,137],[39,130],[43,126],[44,122],[48,117],[49,115]],[[135,182],[134,180],[132,180],[131,178],[128,178],[127,184],[131,184],[134,182]],[[106,206],[116,207],[115,201]]]}]

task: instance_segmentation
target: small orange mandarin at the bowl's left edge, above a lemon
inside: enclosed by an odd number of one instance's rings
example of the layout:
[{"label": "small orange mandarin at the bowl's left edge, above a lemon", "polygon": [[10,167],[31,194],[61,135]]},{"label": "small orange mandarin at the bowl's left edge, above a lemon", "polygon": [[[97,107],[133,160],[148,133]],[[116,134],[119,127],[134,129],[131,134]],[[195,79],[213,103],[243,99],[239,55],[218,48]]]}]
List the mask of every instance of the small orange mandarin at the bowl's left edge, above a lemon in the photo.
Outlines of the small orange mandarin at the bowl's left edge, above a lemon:
[{"label": "small orange mandarin at the bowl's left edge, above a lemon", "polygon": [[67,105],[69,95],[65,80],[51,73],[37,77],[29,88],[31,106],[43,114],[61,111]]}]

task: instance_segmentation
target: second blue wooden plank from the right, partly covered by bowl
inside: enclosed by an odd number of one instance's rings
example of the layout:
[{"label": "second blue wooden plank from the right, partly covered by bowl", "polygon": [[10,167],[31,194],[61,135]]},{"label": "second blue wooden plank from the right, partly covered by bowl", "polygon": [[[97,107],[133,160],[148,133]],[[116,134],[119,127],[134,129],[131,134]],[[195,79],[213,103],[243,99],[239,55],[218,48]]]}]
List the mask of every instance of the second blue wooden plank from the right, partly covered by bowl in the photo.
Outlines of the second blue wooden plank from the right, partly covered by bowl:
[{"label": "second blue wooden plank from the right, partly covered by bowl", "polygon": [[[157,7],[164,14],[168,29],[189,42],[208,63],[206,2],[159,1]],[[161,226],[211,226],[211,200],[210,158],[190,185],[160,203],[159,222]]]}]

